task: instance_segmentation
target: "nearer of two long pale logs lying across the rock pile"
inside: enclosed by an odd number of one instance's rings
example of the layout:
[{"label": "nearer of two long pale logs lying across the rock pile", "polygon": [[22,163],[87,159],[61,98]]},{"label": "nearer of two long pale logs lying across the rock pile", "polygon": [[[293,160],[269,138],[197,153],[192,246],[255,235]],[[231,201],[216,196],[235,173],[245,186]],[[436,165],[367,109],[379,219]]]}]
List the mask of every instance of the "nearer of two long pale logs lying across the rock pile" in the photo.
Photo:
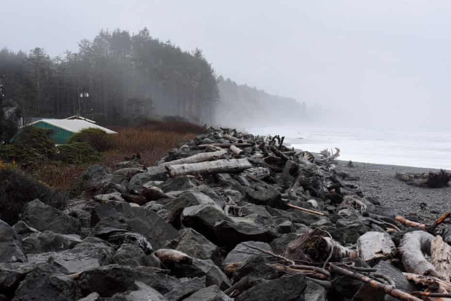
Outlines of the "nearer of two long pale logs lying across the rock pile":
[{"label": "nearer of two long pale logs lying across the rock pile", "polygon": [[239,172],[251,168],[252,164],[247,159],[225,159],[192,164],[177,164],[166,166],[171,177],[189,174],[212,174],[220,172]]}]

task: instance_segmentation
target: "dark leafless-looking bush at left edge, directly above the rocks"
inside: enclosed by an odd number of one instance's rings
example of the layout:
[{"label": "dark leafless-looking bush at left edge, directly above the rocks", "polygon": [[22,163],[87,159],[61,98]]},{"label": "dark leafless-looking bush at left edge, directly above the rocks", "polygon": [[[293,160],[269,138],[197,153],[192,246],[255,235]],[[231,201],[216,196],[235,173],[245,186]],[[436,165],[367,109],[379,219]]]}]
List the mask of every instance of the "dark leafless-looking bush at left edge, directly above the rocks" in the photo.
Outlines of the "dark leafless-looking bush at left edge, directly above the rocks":
[{"label": "dark leafless-looking bush at left edge, directly above the rocks", "polygon": [[0,219],[15,224],[25,204],[35,199],[62,210],[67,196],[16,169],[0,168]]}]

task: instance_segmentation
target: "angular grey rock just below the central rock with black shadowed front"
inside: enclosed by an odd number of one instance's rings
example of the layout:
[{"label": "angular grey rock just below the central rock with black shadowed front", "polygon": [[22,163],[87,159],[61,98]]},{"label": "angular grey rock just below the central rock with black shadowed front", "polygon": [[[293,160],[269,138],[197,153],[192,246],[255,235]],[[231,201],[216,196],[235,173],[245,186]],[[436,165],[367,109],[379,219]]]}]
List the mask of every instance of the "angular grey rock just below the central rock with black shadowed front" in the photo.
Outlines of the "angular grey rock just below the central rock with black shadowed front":
[{"label": "angular grey rock just below the central rock with black shadowed front", "polygon": [[191,257],[211,259],[218,264],[221,260],[218,247],[192,228],[180,230],[177,238],[168,242],[166,247],[181,251]]}]

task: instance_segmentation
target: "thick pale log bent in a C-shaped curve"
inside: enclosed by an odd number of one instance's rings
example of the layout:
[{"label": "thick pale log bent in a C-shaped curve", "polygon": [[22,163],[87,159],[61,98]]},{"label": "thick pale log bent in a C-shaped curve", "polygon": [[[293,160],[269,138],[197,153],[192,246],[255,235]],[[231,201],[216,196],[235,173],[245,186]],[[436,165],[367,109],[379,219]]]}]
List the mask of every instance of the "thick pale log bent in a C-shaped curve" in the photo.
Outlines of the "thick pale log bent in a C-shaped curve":
[{"label": "thick pale log bent in a C-shaped curve", "polygon": [[431,275],[444,279],[435,267],[426,260],[423,253],[431,253],[431,242],[434,236],[424,231],[413,231],[404,234],[399,251],[402,254],[404,269],[409,273]]}]

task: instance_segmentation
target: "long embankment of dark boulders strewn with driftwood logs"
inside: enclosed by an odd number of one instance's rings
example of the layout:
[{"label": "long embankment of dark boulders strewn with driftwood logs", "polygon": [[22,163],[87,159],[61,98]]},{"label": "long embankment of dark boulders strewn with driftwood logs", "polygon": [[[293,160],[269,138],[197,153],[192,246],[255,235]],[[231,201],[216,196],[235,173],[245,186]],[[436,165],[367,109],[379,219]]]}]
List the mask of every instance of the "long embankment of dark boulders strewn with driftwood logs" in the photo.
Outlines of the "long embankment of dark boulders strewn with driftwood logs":
[{"label": "long embankment of dark boulders strewn with driftwood logs", "polygon": [[92,166],[64,211],[34,200],[0,221],[0,301],[421,300],[403,272],[435,227],[334,159],[209,129],[154,167]]}]

